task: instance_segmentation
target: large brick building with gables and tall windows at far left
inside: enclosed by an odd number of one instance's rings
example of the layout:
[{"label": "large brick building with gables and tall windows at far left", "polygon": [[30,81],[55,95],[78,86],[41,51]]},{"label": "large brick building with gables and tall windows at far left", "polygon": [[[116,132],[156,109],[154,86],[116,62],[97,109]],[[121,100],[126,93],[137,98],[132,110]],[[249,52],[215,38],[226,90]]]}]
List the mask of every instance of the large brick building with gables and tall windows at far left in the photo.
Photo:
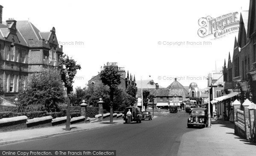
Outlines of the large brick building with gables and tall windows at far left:
[{"label": "large brick building with gables and tall windows at far left", "polygon": [[57,66],[63,52],[54,27],[41,32],[28,20],[3,22],[2,13],[0,6],[0,77],[8,97],[24,90],[32,73]]}]

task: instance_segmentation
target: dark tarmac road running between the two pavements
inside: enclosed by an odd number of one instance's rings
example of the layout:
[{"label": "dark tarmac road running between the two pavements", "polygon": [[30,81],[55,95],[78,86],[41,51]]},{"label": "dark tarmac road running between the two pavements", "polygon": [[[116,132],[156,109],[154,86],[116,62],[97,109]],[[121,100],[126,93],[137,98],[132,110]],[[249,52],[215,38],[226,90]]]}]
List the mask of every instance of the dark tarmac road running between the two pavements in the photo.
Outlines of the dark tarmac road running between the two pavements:
[{"label": "dark tarmac road running between the two pavements", "polygon": [[116,150],[117,156],[177,155],[187,128],[186,112],[156,114],[153,120],[0,146],[0,150]]}]

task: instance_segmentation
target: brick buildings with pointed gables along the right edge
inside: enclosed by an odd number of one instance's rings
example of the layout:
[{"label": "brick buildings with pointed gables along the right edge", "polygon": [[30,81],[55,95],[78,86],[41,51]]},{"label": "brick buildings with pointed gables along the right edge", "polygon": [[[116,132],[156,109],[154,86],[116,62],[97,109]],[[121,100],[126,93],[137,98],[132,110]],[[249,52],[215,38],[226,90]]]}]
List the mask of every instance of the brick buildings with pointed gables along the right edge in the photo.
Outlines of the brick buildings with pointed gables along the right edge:
[{"label": "brick buildings with pointed gables along the right edge", "polygon": [[241,11],[238,37],[234,41],[233,58],[230,54],[228,64],[224,61],[224,92],[233,93],[224,103],[229,111],[231,103],[239,98],[241,104],[245,99],[256,103],[256,2],[250,0],[248,11]]}]

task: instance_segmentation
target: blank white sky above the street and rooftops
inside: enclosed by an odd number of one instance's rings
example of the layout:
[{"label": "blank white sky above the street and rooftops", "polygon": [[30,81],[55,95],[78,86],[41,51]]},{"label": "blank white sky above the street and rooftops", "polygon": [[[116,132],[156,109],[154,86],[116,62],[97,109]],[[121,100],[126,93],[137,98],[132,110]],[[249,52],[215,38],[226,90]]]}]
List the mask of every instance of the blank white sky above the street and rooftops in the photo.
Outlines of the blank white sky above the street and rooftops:
[{"label": "blank white sky above the street and rooftops", "polygon": [[240,14],[249,0],[1,0],[0,5],[3,21],[29,20],[41,32],[55,27],[63,52],[81,65],[74,87],[83,88],[101,66],[117,62],[136,80],[168,87],[177,77],[183,86],[195,82],[205,88],[215,61],[223,66],[229,52],[232,58],[238,32],[201,38],[198,20]]}]

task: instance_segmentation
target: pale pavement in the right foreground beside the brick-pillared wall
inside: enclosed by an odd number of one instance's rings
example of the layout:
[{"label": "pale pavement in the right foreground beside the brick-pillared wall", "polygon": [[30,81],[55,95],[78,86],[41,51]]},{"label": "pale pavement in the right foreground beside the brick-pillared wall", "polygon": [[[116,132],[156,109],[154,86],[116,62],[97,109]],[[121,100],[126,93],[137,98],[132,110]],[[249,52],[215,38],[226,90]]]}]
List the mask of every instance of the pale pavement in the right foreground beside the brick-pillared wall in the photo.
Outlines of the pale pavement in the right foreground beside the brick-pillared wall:
[{"label": "pale pavement in the right foreground beside the brick-pillared wall", "polygon": [[234,124],[212,120],[211,128],[183,134],[178,156],[255,156],[256,144],[234,134]]}]

